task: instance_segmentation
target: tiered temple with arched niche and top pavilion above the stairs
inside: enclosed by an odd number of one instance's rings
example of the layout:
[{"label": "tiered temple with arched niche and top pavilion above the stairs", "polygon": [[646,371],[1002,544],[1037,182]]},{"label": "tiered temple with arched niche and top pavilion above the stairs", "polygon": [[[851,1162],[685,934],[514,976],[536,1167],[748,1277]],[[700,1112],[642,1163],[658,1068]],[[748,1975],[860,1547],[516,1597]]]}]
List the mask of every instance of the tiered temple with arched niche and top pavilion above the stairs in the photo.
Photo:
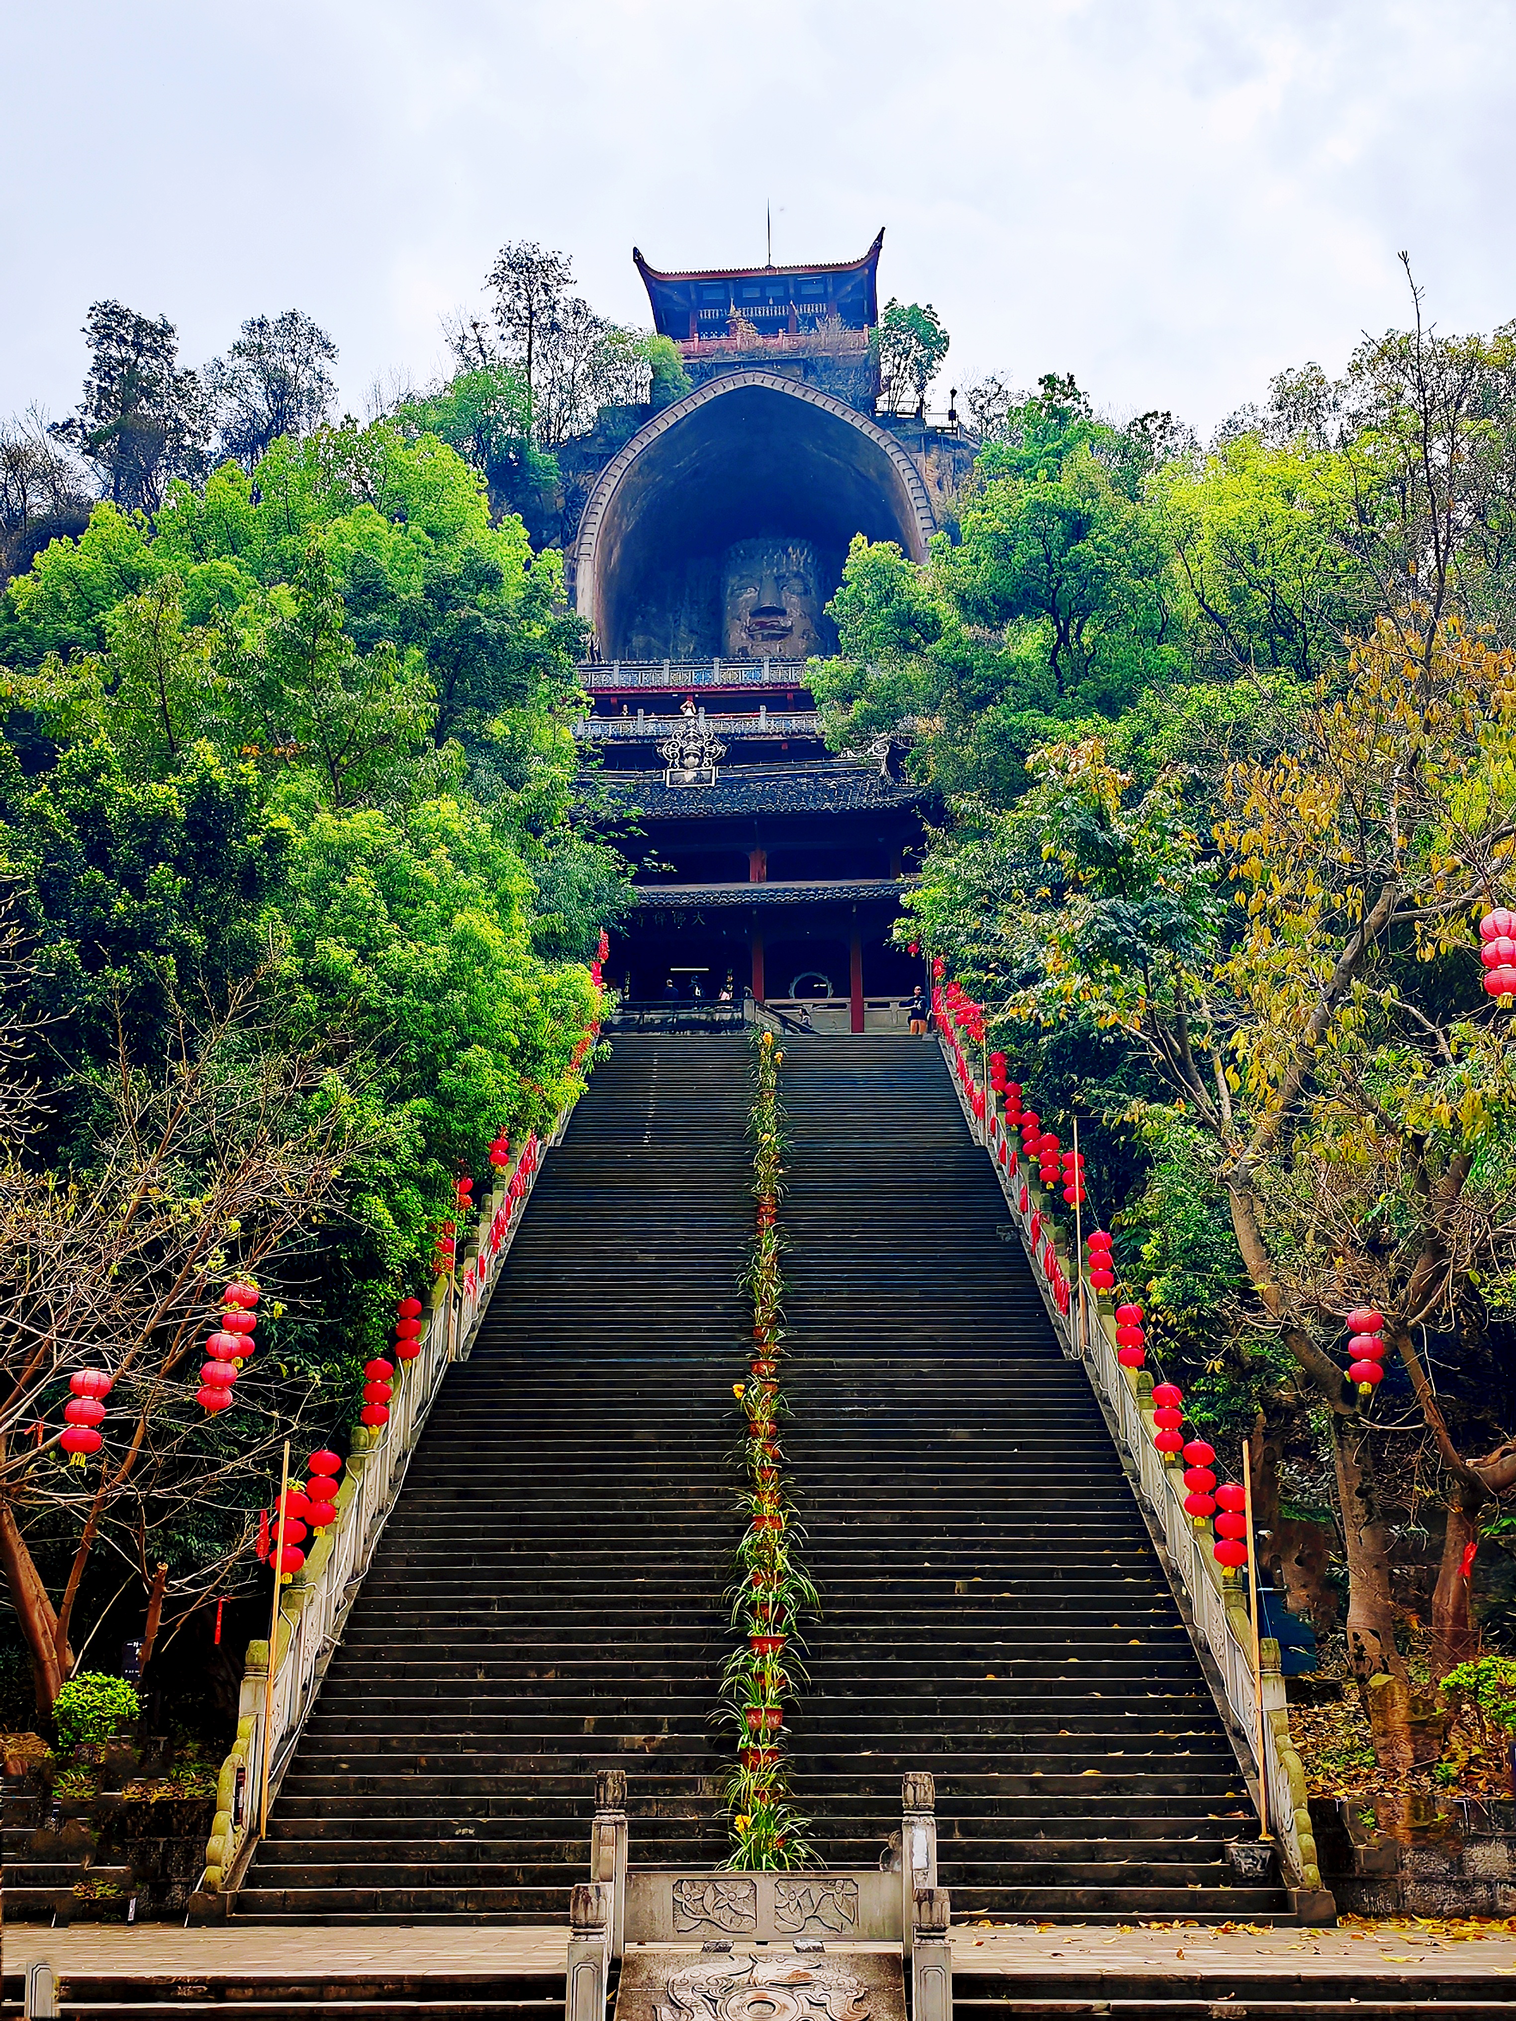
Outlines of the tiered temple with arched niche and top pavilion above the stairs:
[{"label": "tiered temple with arched niche and top pavilion above the stairs", "polygon": [[877,265],[665,273],[635,253],[691,390],[584,473],[570,544],[592,627],[578,726],[637,863],[606,974],[629,1002],[807,1000],[889,1029],[920,968],[889,944],[924,847],[899,740],[833,754],[807,665],[851,540],[924,562],[972,467],[956,424],[879,414]]}]

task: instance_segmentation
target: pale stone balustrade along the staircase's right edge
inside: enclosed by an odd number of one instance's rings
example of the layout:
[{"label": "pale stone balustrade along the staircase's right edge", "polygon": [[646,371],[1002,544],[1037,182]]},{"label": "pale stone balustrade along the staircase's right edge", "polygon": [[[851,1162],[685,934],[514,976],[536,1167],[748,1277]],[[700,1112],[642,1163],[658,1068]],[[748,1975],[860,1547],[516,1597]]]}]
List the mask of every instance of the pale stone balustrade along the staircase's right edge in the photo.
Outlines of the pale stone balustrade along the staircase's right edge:
[{"label": "pale stone balustrade along the staircase's right edge", "polygon": [[[1069,1253],[1067,1231],[1053,1221],[1053,1198],[1039,1184],[1037,1166],[1027,1164],[1017,1132],[1007,1130],[994,1093],[974,1079],[972,1067],[960,1063],[952,1045],[942,1045],[942,1057],[948,1063],[968,1128],[994,1166],[1053,1332],[1063,1352],[1071,1360],[1083,1362],[1136,1491],[1164,1538],[1170,1578],[1189,1605],[1187,1625],[1201,1655],[1211,1659],[1211,1686],[1219,1690],[1239,1760],[1253,1776],[1259,1774],[1259,1730],[1263,1734],[1265,1809],[1286,1886],[1304,1894],[1320,1894],[1322,1873],[1308,1809],[1306,1770],[1290,1738],[1280,1645],[1267,1635],[1259,1639],[1261,1663],[1255,1681],[1245,1576],[1223,1578],[1221,1566],[1209,1550],[1209,1532],[1197,1530],[1185,1512],[1182,1463],[1164,1461],[1152,1443],[1152,1376],[1140,1368],[1122,1368],[1116,1360],[1112,1300],[1089,1285],[1085,1259]],[[1025,1211],[1021,1209],[1023,1184],[1027,1188]],[[1039,1217],[1041,1227],[1037,1243],[1031,1237],[1033,1215]],[[1071,1291],[1067,1314],[1059,1310],[1037,1261],[1037,1247],[1045,1243],[1049,1231]],[[1330,1904],[1330,1896],[1324,1900]]]}]

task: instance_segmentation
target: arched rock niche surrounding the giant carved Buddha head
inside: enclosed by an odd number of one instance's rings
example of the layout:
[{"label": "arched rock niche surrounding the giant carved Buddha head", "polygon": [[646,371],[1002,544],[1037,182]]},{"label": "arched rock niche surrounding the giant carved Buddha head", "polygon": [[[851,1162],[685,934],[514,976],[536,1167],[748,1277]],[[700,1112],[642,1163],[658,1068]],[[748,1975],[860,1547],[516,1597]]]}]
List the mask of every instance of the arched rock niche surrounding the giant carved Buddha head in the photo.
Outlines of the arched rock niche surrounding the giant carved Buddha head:
[{"label": "arched rock niche surrounding the giant carved Buddha head", "polygon": [[722,651],[722,556],[804,540],[831,596],[855,534],[916,560],[936,532],[893,437],[776,372],[730,372],[655,414],[600,471],[574,550],[574,606],[604,659]]}]

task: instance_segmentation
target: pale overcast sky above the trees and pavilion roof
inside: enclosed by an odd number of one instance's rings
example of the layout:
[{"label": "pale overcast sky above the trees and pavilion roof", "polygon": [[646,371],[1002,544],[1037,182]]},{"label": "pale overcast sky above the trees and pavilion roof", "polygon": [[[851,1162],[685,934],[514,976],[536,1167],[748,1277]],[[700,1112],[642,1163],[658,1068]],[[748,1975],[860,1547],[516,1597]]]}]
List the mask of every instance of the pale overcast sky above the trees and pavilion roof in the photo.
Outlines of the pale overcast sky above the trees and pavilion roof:
[{"label": "pale overcast sky above the trees and pavilion roof", "polygon": [[1407,315],[1516,313],[1512,0],[4,0],[0,412],[87,305],[198,364],[301,307],[346,404],[441,368],[493,251],[835,261],[932,301],[944,384],[1073,372],[1201,432]]}]

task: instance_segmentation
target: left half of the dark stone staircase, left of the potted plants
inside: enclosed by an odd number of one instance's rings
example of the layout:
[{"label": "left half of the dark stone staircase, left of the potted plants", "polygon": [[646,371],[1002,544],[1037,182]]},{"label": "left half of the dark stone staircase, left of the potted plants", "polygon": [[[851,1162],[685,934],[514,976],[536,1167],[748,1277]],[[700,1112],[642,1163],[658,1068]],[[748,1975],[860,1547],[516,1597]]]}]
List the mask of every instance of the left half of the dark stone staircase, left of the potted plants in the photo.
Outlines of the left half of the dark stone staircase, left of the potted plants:
[{"label": "left half of the dark stone staircase, left of the potted plants", "polygon": [[740,1037],[625,1039],[548,1158],[239,1896],[303,1922],[562,1922],[592,1778],[637,1857],[726,1847],[732,1372],[752,1227]]}]

